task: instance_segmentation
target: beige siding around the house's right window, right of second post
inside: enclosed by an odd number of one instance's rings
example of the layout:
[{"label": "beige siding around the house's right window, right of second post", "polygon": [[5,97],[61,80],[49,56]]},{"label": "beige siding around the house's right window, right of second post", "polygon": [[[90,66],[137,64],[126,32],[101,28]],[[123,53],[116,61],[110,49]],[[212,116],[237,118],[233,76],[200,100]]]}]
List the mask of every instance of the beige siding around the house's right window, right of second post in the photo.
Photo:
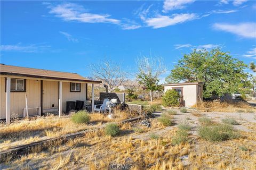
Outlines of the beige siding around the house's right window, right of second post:
[{"label": "beige siding around the house's right window, right of second post", "polygon": [[62,83],[62,112],[66,112],[66,102],[67,101],[76,101],[76,100],[85,100],[86,99],[86,90],[85,83],[81,83],[81,92],[70,92],[70,83]]}]

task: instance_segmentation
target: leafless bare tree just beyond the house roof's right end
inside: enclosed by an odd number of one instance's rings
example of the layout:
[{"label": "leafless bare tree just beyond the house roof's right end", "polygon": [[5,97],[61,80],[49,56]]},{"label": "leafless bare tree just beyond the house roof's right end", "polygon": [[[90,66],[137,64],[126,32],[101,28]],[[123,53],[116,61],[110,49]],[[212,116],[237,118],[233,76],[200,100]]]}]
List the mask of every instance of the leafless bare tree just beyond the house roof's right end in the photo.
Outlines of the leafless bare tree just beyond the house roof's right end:
[{"label": "leafless bare tree just beyond the house roof's right end", "polygon": [[121,66],[112,61],[103,61],[100,64],[91,64],[92,75],[108,86],[109,92],[113,92],[126,78],[126,72]]}]

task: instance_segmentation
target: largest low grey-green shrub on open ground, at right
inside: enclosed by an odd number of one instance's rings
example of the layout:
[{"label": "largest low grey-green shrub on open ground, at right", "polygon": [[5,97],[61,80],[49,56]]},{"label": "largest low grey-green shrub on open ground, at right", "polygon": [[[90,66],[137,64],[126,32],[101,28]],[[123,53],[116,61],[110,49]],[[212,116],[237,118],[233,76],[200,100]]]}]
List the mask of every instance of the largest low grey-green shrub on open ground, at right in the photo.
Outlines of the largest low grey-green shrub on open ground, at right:
[{"label": "largest low grey-green shrub on open ground, at right", "polygon": [[198,135],[211,142],[220,142],[239,137],[233,127],[229,124],[200,126],[198,128]]}]

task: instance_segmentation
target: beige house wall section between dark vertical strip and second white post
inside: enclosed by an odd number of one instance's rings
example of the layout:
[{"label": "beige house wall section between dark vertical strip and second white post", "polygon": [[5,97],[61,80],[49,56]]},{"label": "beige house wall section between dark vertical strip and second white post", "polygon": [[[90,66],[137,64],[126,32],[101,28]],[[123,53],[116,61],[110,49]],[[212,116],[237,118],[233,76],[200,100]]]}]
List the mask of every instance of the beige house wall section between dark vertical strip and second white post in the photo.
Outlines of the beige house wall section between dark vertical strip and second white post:
[{"label": "beige house wall section between dark vertical strip and second white post", "polygon": [[43,113],[59,110],[59,82],[43,81]]}]

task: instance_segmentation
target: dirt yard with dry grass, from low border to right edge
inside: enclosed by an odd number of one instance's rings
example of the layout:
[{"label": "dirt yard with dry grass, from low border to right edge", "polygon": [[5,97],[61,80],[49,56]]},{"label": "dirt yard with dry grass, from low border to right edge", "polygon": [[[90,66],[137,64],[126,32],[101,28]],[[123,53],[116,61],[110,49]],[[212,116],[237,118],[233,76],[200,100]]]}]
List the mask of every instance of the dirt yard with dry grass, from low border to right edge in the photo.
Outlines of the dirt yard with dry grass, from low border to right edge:
[{"label": "dirt yard with dry grass, from low border to right edge", "polygon": [[[106,137],[100,130],[65,145],[35,148],[33,154],[2,163],[1,169],[122,169],[117,165],[127,165],[127,169],[256,169],[255,113],[202,113],[216,122],[228,117],[240,123],[234,128],[241,138],[212,143],[198,137],[198,116],[191,111],[177,112],[173,126],[165,127],[157,118],[150,118],[151,128],[140,122],[125,124],[118,137]],[[189,142],[172,145],[183,121],[193,127]]]}]

